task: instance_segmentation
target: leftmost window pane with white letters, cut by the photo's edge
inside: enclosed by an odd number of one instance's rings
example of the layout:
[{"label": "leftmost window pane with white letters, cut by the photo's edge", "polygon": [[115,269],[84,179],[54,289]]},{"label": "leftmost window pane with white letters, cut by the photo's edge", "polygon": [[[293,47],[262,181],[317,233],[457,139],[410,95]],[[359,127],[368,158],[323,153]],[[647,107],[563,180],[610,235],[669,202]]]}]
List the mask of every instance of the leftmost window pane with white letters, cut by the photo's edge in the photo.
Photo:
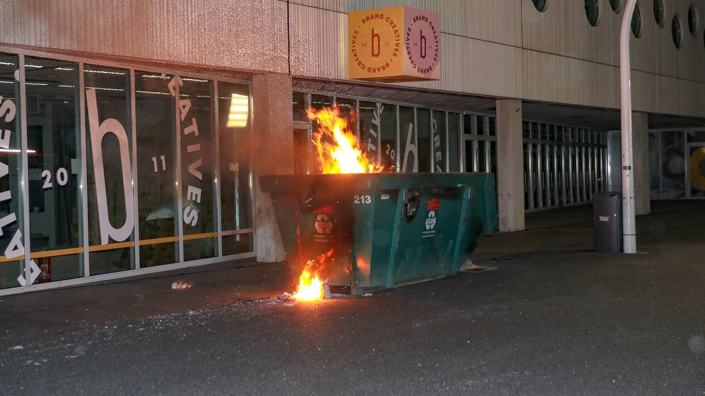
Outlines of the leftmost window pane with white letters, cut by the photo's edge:
[{"label": "leftmost window pane with white letters, cut by the photo's edge", "polygon": [[[0,236],[0,288],[20,286],[18,276],[24,275],[25,269],[24,255],[13,255],[10,253],[13,249],[9,246],[13,236],[21,233],[23,227],[23,196],[20,194],[20,108],[17,106],[20,84],[15,79],[17,70],[18,56],[0,53],[0,130],[3,131],[0,135],[0,162],[7,165],[7,173],[0,172],[0,193],[3,194],[0,200],[0,219],[5,224]],[[30,104],[27,101],[27,106]],[[9,196],[6,196],[6,191],[9,191]],[[20,241],[25,239],[20,238]],[[7,253],[15,257],[8,258]]]}]

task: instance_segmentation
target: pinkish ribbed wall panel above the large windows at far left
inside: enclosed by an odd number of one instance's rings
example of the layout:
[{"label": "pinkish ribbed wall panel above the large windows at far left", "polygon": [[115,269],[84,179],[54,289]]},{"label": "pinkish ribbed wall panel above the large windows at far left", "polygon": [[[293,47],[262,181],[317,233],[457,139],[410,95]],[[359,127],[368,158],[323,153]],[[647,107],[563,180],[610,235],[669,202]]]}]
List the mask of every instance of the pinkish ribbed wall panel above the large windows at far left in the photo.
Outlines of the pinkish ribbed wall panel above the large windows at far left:
[{"label": "pinkish ribbed wall panel above the large windows at far left", "polygon": [[21,0],[0,4],[0,41],[106,56],[288,72],[276,0]]}]

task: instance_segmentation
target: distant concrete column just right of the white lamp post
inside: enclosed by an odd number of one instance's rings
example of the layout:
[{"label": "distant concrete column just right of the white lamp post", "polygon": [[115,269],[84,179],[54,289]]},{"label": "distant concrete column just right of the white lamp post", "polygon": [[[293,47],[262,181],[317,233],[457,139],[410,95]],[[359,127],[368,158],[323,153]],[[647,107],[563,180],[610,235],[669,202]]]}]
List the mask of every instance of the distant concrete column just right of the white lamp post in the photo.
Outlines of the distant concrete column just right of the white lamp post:
[{"label": "distant concrete column just right of the white lamp post", "polygon": [[634,159],[634,212],[651,213],[649,181],[649,114],[632,113],[632,155]]}]

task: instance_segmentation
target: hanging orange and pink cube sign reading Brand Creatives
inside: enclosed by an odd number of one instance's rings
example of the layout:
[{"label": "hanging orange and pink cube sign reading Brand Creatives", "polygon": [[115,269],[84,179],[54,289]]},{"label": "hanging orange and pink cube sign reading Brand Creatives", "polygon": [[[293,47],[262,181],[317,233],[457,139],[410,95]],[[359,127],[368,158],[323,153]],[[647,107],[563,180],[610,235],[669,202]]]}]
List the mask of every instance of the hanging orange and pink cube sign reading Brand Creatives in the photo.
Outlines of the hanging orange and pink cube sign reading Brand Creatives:
[{"label": "hanging orange and pink cube sign reading Brand Creatives", "polygon": [[349,13],[348,76],[376,82],[441,79],[441,16],[405,6]]}]

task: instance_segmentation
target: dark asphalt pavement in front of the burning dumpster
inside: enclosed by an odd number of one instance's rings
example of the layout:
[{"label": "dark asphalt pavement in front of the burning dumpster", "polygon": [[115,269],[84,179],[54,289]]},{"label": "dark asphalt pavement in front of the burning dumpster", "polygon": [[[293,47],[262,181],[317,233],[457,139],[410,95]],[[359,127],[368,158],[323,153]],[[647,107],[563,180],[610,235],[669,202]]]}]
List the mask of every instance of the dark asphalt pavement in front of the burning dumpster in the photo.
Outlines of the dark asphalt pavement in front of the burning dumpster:
[{"label": "dark asphalt pavement in front of the burning dumpster", "polygon": [[233,300],[226,285],[209,291],[223,305],[156,316],[13,317],[0,394],[704,395],[704,219],[640,217],[636,255],[592,252],[578,217],[500,234],[474,255],[496,269],[370,296]]}]

